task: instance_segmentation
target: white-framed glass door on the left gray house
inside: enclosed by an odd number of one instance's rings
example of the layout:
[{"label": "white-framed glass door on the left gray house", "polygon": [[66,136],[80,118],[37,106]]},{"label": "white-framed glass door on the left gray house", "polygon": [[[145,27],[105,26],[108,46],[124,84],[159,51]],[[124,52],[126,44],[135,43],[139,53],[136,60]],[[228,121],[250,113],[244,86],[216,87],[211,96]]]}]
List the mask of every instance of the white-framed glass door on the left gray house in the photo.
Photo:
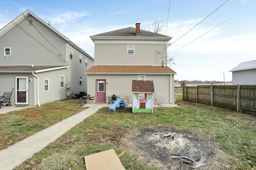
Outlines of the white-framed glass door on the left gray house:
[{"label": "white-framed glass door on the left gray house", "polygon": [[28,76],[15,76],[15,104],[28,105]]}]

